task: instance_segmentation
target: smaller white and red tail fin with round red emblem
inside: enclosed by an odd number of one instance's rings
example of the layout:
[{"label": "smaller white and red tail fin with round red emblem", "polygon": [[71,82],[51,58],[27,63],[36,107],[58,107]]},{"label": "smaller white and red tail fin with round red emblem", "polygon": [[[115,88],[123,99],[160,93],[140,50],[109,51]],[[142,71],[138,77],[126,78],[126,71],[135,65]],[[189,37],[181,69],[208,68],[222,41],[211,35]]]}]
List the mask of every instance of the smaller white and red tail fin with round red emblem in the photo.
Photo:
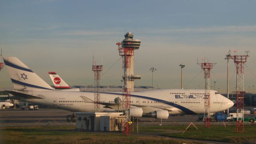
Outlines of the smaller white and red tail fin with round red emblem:
[{"label": "smaller white and red tail fin with round red emblem", "polygon": [[56,72],[48,72],[55,89],[70,89],[70,86]]}]

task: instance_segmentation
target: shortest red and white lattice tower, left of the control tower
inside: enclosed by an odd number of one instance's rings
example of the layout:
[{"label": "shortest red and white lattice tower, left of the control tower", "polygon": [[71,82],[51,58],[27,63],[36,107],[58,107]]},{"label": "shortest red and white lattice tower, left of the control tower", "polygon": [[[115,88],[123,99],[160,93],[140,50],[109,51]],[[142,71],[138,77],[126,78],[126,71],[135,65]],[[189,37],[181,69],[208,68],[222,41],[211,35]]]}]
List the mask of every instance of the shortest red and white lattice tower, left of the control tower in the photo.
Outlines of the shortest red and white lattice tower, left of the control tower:
[{"label": "shortest red and white lattice tower, left of the control tower", "polygon": [[96,62],[94,61],[94,65],[92,65],[92,71],[94,72],[94,112],[100,112],[100,92],[99,92],[99,86],[100,86],[100,73],[103,70],[102,65],[96,65]]}]

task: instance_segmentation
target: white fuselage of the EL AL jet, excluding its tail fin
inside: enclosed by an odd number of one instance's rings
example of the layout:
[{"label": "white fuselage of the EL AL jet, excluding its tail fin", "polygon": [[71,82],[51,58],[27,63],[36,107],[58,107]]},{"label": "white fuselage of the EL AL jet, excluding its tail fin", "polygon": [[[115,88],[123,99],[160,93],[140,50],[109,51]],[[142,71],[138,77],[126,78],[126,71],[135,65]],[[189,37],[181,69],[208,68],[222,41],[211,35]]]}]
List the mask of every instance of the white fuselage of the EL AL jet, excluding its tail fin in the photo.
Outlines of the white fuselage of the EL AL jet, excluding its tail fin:
[{"label": "white fuselage of the EL AL jet, excluding its tail fin", "polygon": [[[59,90],[31,91],[42,99],[22,99],[28,102],[69,110],[72,112],[94,112],[94,92],[68,92]],[[31,94],[31,93],[30,93]],[[131,92],[131,105],[141,107],[143,113],[168,110],[169,114],[201,114],[204,109],[204,90],[166,89]],[[114,99],[122,100],[121,92],[101,92],[100,102],[114,105]],[[233,106],[228,98],[210,91],[210,112],[220,112]],[[100,112],[111,110],[100,106]],[[122,106],[120,106],[121,108]]]}]

